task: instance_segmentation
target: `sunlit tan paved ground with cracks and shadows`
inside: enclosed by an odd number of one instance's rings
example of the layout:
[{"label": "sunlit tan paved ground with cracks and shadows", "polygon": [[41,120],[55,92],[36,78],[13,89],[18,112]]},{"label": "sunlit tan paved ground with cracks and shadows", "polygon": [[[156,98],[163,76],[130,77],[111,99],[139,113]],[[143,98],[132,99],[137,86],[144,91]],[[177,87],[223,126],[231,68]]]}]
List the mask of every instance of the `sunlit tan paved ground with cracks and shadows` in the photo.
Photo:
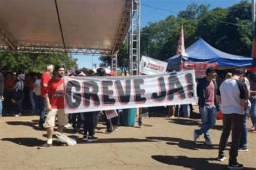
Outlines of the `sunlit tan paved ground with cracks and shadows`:
[{"label": "sunlit tan paved ground with cracks and shadows", "polygon": [[[100,124],[95,143],[83,142],[82,134],[66,129],[68,136],[77,138],[76,146],[37,150],[46,140],[46,132],[35,129],[37,119],[0,119],[0,169],[227,169],[227,160],[216,160],[221,121],[210,131],[213,146],[204,145],[203,137],[193,143],[199,119],[181,118],[178,122],[150,117],[143,119],[142,128],[121,127],[112,134],[104,134],[105,126]],[[238,161],[246,169],[255,169],[256,134],[251,132],[248,148],[249,152],[239,153]]]}]

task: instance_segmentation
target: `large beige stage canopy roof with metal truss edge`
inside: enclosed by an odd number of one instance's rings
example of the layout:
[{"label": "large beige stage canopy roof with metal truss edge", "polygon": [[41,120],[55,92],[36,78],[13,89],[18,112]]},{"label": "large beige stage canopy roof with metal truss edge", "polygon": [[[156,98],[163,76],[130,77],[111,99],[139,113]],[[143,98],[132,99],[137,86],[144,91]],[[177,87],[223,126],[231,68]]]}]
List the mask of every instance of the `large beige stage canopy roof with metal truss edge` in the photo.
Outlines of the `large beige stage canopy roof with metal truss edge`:
[{"label": "large beige stage canopy roof with metal truss edge", "polygon": [[0,49],[111,55],[129,29],[130,0],[0,0]]}]

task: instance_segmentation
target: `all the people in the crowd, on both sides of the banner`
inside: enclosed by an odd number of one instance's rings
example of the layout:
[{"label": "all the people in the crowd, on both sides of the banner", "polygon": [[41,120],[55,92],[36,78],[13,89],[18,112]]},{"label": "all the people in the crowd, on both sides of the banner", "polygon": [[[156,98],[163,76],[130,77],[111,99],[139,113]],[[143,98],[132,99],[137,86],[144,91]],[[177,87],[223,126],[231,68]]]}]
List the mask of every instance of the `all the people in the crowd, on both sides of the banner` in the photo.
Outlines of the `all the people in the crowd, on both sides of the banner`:
[{"label": "all the people in the crowd, on both sides of the banner", "polygon": [[[92,111],[78,114],[64,114],[64,84],[63,76],[114,76],[114,72],[106,74],[103,68],[97,69],[97,73],[90,73],[83,68],[66,73],[64,66],[53,67],[48,65],[46,72],[39,73],[4,73],[0,72],[0,117],[22,116],[24,108],[30,110],[31,115],[39,114],[38,128],[46,128],[48,140],[38,148],[52,146],[53,127],[58,117],[57,131],[63,133],[64,127],[72,126],[73,132],[81,132],[83,140],[97,141],[95,129],[99,121],[99,115],[105,115],[104,111]],[[198,82],[198,105],[202,126],[194,130],[193,140],[204,134],[205,144],[212,145],[210,129],[216,122],[217,113],[223,112],[223,132],[219,142],[218,160],[224,161],[226,145],[230,145],[229,168],[242,168],[237,162],[238,152],[248,151],[246,120],[251,117],[251,132],[256,133],[256,73],[246,72],[244,68],[235,68],[232,73],[227,73],[224,80],[217,79],[217,73],[213,68],[206,70],[206,77]],[[3,101],[3,104],[2,104]],[[29,103],[28,103],[29,101]],[[2,109],[4,108],[4,109]],[[184,117],[190,117],[191,105],[181,106]],[[167,107],[167,116],[173,118],[176,107]],[[118,130],[120,114],[106,120],[105,133]],[[227,142],[232,130],[232,141]],[[66,145],[57,141],[58,145]]]}]

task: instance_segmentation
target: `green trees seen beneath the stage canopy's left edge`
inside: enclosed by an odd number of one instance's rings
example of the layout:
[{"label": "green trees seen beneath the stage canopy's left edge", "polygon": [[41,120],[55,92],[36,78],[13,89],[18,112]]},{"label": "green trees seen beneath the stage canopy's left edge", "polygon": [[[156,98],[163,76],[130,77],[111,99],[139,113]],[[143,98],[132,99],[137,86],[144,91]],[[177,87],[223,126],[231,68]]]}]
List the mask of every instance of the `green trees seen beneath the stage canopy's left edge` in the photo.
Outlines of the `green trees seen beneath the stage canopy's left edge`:
[{"label": "green trees seen beneath the stage canopy's left edge", "polygon": [[76,59],[66,54],[0,53],[0,67],[6,72],[44,72],[46,65],[76,66]]}]

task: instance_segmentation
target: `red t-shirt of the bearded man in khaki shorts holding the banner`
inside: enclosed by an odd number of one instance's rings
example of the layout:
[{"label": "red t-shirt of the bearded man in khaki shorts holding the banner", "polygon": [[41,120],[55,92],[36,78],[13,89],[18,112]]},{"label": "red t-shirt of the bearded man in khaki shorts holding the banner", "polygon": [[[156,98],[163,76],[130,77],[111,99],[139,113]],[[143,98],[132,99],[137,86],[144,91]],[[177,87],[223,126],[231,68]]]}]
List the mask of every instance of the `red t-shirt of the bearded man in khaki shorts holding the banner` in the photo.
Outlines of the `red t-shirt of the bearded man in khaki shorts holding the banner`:
[{"label": "red t-shirt of the bearded man in khaki shorts holding the banner", "polygon": [[48,82],[48,97],[53,109],[64,108],[64,87],[63,79],[52,78]]}]

